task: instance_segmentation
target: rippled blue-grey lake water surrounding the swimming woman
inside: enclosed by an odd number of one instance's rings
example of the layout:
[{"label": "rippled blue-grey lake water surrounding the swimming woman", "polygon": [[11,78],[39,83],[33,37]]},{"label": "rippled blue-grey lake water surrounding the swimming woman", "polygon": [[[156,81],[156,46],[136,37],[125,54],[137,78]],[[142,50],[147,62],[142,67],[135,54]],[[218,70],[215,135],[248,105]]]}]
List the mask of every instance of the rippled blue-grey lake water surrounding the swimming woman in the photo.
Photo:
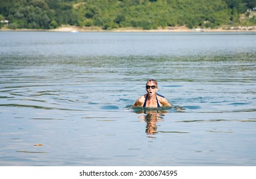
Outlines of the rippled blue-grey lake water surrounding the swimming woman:
[{"label": "rippled blue-grey lake water surrounding the swimming woman", "polygon": [[256,166],[255,69],[256,33],[2,31],[0,166]]}]

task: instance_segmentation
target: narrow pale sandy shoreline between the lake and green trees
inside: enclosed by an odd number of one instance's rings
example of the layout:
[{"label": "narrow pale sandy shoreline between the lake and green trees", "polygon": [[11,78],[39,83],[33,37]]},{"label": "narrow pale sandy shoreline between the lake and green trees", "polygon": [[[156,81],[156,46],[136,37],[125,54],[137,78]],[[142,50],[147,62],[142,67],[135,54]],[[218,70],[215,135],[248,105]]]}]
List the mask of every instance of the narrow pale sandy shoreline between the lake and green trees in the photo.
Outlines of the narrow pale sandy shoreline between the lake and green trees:
[{"label": "narrow pale sandy shoreline between the lake and green trees", "polygon": [[185,26],[167,27],[166,29],[136,29],[136,28],[119,28],[119,29],[101,29],[100,27],[77,27],[77,26],[61,26],[57,29],[9,29],[2,27],[0,31],[50,31],[50,32],[166,32],[166,33],[182,33],[182,32],[256,32],[256,26],[250,27],[220,27],[218,29],[189,29]]}]

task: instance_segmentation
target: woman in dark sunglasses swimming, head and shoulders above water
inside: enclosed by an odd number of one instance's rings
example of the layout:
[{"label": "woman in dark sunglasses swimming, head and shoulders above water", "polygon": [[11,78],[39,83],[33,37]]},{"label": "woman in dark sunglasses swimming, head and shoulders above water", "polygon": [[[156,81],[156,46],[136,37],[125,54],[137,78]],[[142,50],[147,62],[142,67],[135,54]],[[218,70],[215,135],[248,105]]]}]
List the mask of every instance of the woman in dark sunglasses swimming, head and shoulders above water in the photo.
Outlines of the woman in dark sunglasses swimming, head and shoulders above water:
[{"label": "woman in dark sunglasses swimming, head and shoulders above water", "polygon": [[147,94],[138,98],[132,107],[172,107],[171,104],[163,96],[156,93],[157,81],[150,79],[146,84]]}]

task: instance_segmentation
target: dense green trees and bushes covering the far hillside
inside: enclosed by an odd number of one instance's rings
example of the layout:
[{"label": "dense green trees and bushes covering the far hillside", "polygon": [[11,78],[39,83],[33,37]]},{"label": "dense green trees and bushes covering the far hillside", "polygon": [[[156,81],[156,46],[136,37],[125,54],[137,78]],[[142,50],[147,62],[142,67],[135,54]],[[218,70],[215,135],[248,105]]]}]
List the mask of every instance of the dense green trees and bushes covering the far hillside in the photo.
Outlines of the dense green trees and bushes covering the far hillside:
[{"label": "dense green trees and bushes covering the far hillside", "polygon": [[[254,7],[256,0],[0,0],[0,20],[8,20],[12,29],[61,25],[214,28],[241,24],[241,14]],[[255,16],[250,24],[256,24]]]}]

